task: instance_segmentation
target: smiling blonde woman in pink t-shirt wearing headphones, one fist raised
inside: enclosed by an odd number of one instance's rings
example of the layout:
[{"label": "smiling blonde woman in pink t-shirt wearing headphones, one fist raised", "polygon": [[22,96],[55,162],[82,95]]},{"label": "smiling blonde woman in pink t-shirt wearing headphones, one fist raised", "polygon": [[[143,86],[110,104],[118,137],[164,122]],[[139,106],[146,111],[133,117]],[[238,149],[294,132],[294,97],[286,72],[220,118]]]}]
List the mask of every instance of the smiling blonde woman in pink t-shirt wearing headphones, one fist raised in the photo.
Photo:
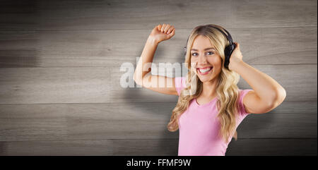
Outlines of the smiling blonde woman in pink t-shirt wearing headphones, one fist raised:
[{"label": "smiling blonde woman in pink t-shirt wearing headphones, one fist raised", "polygon": [[[284,88],[269,75],[242,60],[240,44],[236,45],[225,66],[225,47],[230,44],[219,25],[199,25],[187,42],[186,77],[168,78],[151,75],[149,69],[158,44],[175,35],[169,24],[157,25],[148,37],[136,66],[134,80],[155,92],[178,95],[168,130],[179,128],[178,155],[225,155],[236,128],[248,114],[269,112],[285,99]],[[252,87],[240,90],[240,76]],[[154,81],[159,80],[159,81]],[[158,86],[161,81],[172,82]]]}]

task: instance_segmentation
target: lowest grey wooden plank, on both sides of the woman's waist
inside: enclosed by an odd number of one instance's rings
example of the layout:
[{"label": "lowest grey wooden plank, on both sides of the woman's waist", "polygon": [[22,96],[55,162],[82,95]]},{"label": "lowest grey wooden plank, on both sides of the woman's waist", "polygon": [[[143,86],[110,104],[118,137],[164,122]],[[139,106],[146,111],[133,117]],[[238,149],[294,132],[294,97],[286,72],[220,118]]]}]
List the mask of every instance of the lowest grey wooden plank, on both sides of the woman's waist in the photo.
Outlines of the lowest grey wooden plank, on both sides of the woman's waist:
[{"label": "lowest grey wooden plank, on both sides of the woman's waist", "polygon": [[[59,140],[0,142],[0,155],[177,156],[177,139]],[[241,139],[230,142],[230,155],[317,155],[317,139]]]}]

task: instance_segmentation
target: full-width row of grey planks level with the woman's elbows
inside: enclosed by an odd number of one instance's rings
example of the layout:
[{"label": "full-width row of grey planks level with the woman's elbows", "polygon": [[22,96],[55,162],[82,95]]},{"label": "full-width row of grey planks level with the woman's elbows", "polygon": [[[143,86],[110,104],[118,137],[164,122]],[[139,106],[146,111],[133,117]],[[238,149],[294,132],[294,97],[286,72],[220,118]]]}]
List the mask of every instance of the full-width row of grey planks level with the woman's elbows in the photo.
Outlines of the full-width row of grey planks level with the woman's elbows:
[{"label": "full-width row of grey planks level with the woman's elbows", "polygon": [[[285,101],[317,101],[317,64],[254,67],[270,75],[285,88]],[[153,70],[153,74],[173,75],[173,71],[168,70],[165,74]],[[177,101],[177,96],[163,95],[145,87],[122,87],[120,80],[126,78],[125,73],[132,76],[134,69],[0,68],[0,104]],[[134,83],[132,77],[129,80]],[[243,78],[238,86],[241,89],[251,88]]]}]

